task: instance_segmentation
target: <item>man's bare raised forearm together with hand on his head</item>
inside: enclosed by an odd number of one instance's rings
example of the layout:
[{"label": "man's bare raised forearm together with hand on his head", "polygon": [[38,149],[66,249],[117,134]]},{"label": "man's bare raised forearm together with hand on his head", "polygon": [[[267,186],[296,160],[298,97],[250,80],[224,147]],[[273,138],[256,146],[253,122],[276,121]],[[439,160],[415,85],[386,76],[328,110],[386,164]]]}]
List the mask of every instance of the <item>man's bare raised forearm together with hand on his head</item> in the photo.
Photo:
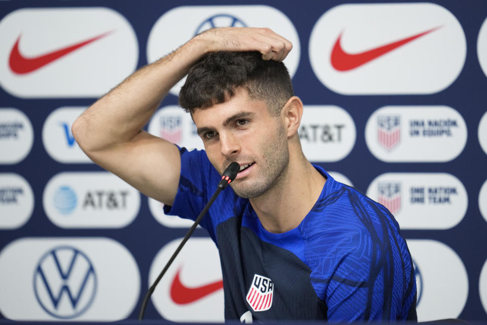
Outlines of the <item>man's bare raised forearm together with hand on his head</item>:
[{"label": "man's bare raised forearm together with hand on his head", "polygon": [[85,152],[131,141],[150,119],[167,92],[205,53],[259,51],[262,58],[283,60],[292,48],[268,28],[215,28],[202,32],[164,58],[136,71],[99,99],[73,124]]}]

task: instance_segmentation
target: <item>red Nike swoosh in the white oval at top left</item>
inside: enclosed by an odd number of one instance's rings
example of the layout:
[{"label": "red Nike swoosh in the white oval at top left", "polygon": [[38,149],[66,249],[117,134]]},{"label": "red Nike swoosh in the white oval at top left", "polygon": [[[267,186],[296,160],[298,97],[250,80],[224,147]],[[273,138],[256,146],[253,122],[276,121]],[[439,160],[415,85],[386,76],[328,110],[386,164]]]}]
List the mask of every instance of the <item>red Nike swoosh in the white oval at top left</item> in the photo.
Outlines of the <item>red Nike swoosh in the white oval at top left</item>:
[{"label": "red Nike swoosh in the white oval at top left", "polygon": [[20,38],[22,35],[20,35],[17,39],[17,41],[14,44],[14,47],[10,51],[10,57],[9,57],[9,66],[10,69],[19,75],[24,75],[27,73],[30,73],[32,71],[36,71],[44,66],[46,66],[49,63],[54,62],[55,60],[79,49],[80,47],[83,47],[87,44],[90,44],[91,42],[94,42],[102,37],[105,37],[109,35],[112,31],[108,31],[106,33],[103,33],[99,36],[93,37],[89,40],[85,40],[80,43],[76,43],[73,45],[66,46],[64,48],[61,48],[56,51],[52,51],[43,55],[39,55],[36,57],[26,57],[19,51],[19,42]]}]

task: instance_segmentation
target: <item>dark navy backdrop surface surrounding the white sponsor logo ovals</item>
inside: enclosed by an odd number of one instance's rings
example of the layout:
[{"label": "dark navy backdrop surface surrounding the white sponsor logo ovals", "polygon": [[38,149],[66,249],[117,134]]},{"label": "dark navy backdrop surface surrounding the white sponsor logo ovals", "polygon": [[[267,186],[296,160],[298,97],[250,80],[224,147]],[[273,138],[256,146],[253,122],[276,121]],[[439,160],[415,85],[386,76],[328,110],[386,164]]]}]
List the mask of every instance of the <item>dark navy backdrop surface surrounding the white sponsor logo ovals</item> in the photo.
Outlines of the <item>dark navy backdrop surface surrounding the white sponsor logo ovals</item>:
[{"label": "dark navy backdrop surface surrounding the white sponsor logo ovals", "polygon": [[[375,1],[377,3],[383,1]],[[388,1],[392,3],[394,1]],[[407,1],[401,1],[407,2]],[[483,74],[477,58],[477,36],[482,22],[487,17],[487,1],[444,0],[433,1],[453,13],[463,27],[467,40],[465,66],[458,79],[448,88],[429,95],[355,95],[346,96],[327,89],[311,70],[308,59],[308,41],[312,27],[328,9],[342,4],[342,1],[0,1],[0,19],[8,13],[24,7],[75,7],[104,6],[124,15],[133,26],[139,42],[138,67],[147,64],[147,39],[157,19],[171,8],[183,5],[235,5],[265,4],[287,15],[298,31],[301,42],[299,68],[293,78],[295,93],[305,105],[337,105],[349,112],[357,127],[357,141],[352,152],[337,163],[321,164],[325,169],[339,171],[349,177],[355,187],[366,191],[370,182],[385,172],[445,172],[458,177],[468,193],[468,209],[464,219],[449,230],[402,231],[407,239],[434,239],[453,248],[462,259],[468,272],[468,300],[460,315],[463,319],[485,320],[487,314],[479,299],[479,275],[487,259],[487,222],[478,208],[478,193],[487,179],[487,155],[478,142],[477,127],[487,110],[487,77]],[[358,3],[349,1],[346,3]],[[184,23],[184,22],[182,22]],[[0,250],[11,241],[26,236],[105,236],[123,243],[134,255],[141,271],[142,300],[149,267],[155,254],[168,241],[183,237],[186,229],[167,229],[151,215],[147,198],[141,201],[137,218],[123,229],[67,230],[59,229],[45,215],[42,193],[48,180],[62,171],[96,171],[95,165],[60,164],[45,151],[42,144],[43,124],[51,111],[61,106],[89,106],[96,99],[20,99],[0,89],[0,106],[13,107],[23,111],[34,129],[34,144],[29,155],[17,165],[0,165],[0,173],[13,172],[26,178],[32,186],[35,206],[32,217],[20,229],[0,231]],[[162,106],[176,105],[177,98],[168,95]],[[367,149],[364,138],[365,123],[379,107],[385,105],[447,105],[455,108],[467,123],[468,140],[464,151],[448,163],[388,164],[375,158]],[[2,153],[4,154],[4,153]],[[203,230],[196,230],[193,236],[206,236]],[[451,279],[455,282],[455,279]],[[450,285],[445,283],[446,286]],[[1,288],[0,288],[1,290]],[[441,301],[438,301],[441,304]],[[136,318],[138,308],[130,318]],[[1,317],[2,315],[0,315]],[[146,318],[160,318],[149,304]]]}]

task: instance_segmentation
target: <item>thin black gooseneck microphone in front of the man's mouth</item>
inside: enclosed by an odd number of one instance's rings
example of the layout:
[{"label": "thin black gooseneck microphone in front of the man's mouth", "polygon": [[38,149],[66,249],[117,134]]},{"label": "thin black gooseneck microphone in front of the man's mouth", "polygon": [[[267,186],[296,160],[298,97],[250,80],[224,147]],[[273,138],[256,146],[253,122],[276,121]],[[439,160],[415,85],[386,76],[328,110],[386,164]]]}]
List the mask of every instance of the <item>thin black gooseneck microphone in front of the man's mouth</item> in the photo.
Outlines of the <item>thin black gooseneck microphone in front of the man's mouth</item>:
[{"label": "thin black gooseneck microphone in front of the man's mouth", "polygon": [[208,203],[206,203],[203,210],[198,215],[198,217],[194,221],[194,223],[191,226],[191,228],[189,229],[189,231],[186,233],[186,236],[184,236],[183,240],[181,241],[181,244],[179,244],[178,248],[176,248],[176,250],[172,254],[171,258],[169,258],[169,261],[167,262],[166,266],[164,267],[164,269],[162,269],[161,273],[159,274],[157,279],[154,281],[154,284],[152,284],[151,287],[149,288],[149,290],[147,290],[146,296],[144,297],[144,301],[142,302],[142,305],[141,305],[141,311],[138,314],[138,320],[142,320],[142,318],[144,318],[144,313],[146,312],[147,303],[149,302],[149,299],[151,298],[152,293],[154,292],[154,289],[156,288],[156,285],[162,279],[162,276],[166,273],[167,269],[172,264],[172,262],[174,261],[176,256],[179,254],[179,252],[181,251],[181,248],[183,248],[184,244],[186,244],[189,237],[191,237],[194,230],[198,226],[199,222],[201,221],[201,219],[203,219],[203,216],[206,214],[206,212],[208,212],[208,209],[210,209],[213,202],[218,197],[218,194],[220,194],[220,192],[222,190],[224,190],[228,186],[228,184],[233,182],[235,177],[237,177],[237,174],[239,171],[240,171],[240,165],[238,165],[238,163],[236,163],[235,161],[233,163],[231,163],[230,165],[228,165],[228,167],[225,169],[225,171],[222,174],[222,179],[218,183],[217,190],[213,194],[212,198],[210,199],[210,201],[208,201]]}]

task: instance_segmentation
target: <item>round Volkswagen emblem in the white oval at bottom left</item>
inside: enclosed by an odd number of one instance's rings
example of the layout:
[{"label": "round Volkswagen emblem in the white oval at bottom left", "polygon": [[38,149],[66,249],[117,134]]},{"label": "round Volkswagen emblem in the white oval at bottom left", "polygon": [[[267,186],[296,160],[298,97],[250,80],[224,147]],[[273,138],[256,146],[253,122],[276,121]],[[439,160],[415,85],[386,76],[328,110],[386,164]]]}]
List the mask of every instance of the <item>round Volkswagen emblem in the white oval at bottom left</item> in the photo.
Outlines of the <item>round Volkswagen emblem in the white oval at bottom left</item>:
[{"label": "round Volkswagen emblem in the white oval at bottom left", "polygon": [[34,293],[50,315],[69,319],[82,315],[96,295],[96,273],[90,259],[71,246],[44,254],[34,272]]}]

